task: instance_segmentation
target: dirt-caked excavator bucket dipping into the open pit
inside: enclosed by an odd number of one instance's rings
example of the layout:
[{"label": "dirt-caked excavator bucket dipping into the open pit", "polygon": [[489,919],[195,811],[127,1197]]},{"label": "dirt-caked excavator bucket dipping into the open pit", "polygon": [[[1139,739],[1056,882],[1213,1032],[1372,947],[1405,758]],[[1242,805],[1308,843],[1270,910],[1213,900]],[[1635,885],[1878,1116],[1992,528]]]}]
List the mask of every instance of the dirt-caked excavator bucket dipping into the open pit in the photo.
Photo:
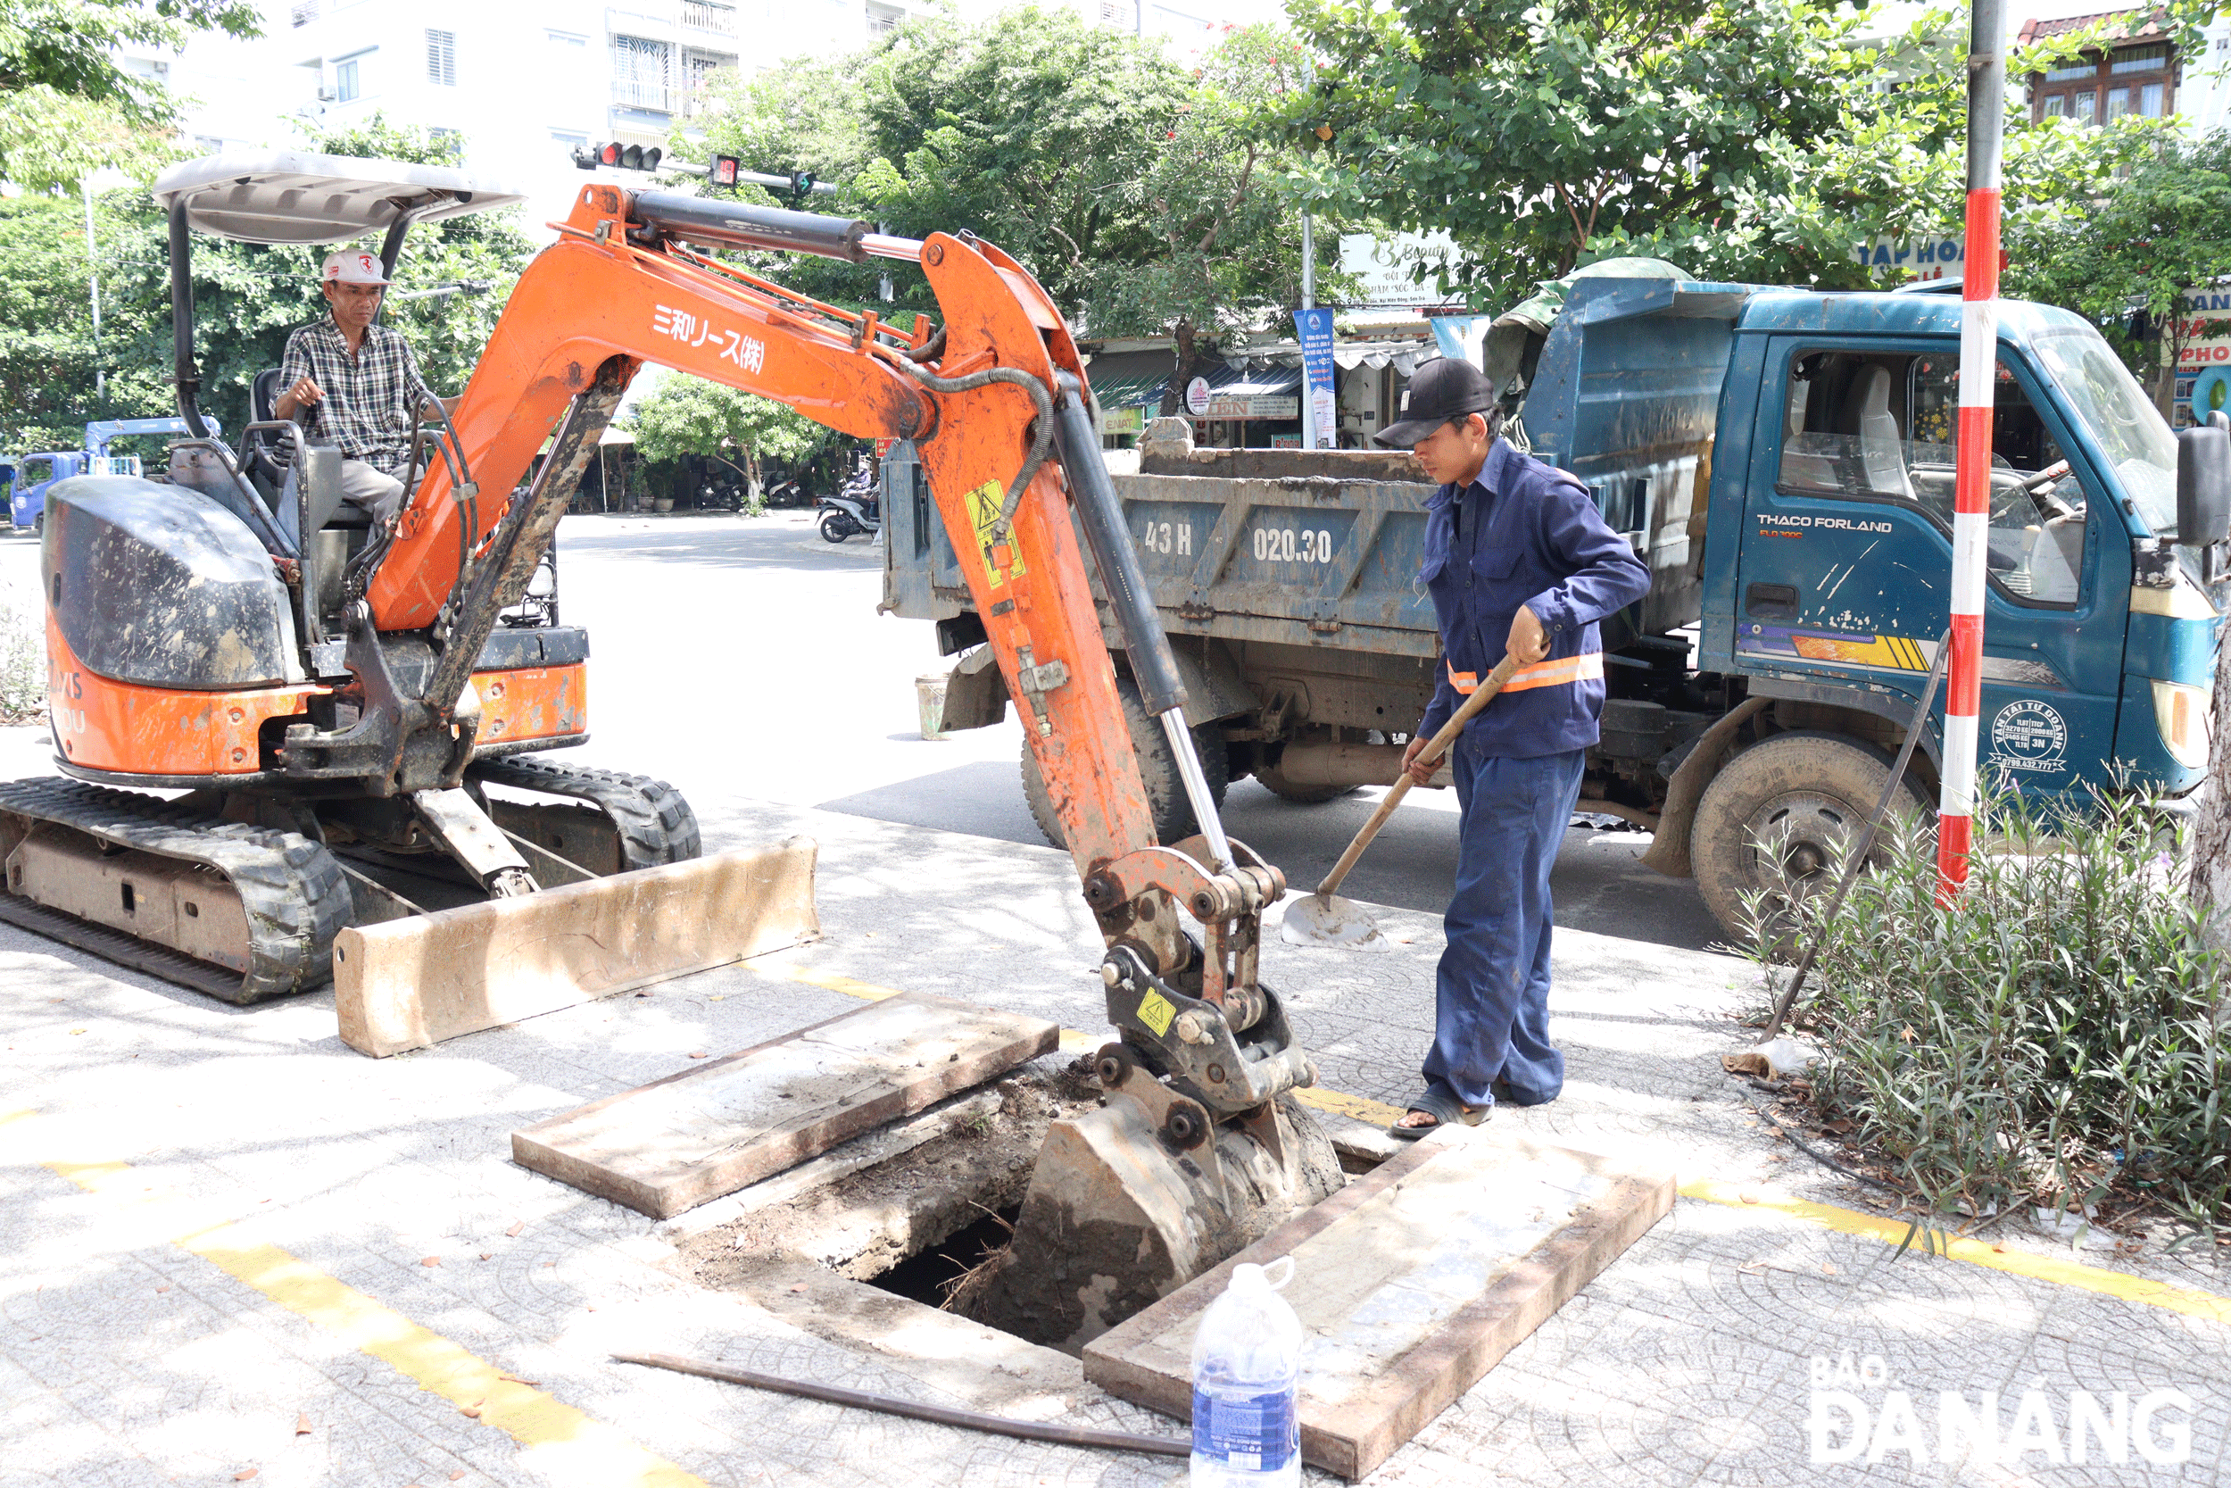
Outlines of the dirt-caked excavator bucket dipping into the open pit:
[{"label": "dirt-caked excavator bucket dipping into the open pit", "polygon": [[1109,1053],[1107,1104],[1046,1129],[1008,1247],[953,1298],[979,1323],[1069,1354],[1348,1182],[1292,1095],[1211,1122]]}]

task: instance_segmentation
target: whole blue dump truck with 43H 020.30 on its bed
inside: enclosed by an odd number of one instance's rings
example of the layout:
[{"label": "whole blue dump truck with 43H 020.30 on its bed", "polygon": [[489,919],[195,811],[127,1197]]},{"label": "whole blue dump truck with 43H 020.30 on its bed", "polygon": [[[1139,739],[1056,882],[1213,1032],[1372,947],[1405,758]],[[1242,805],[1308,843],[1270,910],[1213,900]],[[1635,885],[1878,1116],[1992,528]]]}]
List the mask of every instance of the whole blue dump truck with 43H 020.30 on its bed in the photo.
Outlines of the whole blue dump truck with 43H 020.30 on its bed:
[{"label": "whole blue dump truck with 43H 020.30 on its bed", "polygon": [[[1533,453],[1586,482],[1653,573],[1604,625],[1580,810],[1653,830],[1644,861],[1696,877],[1731,935],[1747,890],[1832,872],[1937,656],[1959,317],[1943,292],[1577,277],[1562,308],[1490,332]],[[2001,301],[1995,377],[1983,774],[2189,792],[2231,598],[2231,433],[2173,435],[2099,332],[2046,306]],[[1296,801],[1392,783],[1439,654],[1417,582],[1432,489],[1408,455],[1196,451],[1185,428],[1151,428],[1116,489],[1211,783],[1254,774]],[[886,486],[886,609],[962,656],[946,727],[997,723],[999,671],[904,446]],[[1939,694],[1914,810],[1934,803],[1941,729]],[[1182,792],[1145,716],[1133,738],[1169,841]],[[1051,837],[1028,750],[1024,790]]]}]

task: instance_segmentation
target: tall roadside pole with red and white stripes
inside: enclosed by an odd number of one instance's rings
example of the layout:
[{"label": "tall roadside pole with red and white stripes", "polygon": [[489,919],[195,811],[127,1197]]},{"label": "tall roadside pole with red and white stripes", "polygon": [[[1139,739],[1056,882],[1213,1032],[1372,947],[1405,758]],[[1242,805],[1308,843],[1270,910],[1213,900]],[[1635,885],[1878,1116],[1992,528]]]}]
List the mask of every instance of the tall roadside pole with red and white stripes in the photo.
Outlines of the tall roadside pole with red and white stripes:
[{"label": "tall roadside pole with red and white stripes", "polygon": [[1974,846],[1977,716],[1983,712],[1983,593],[1990,540],[1990,408],[1999,373],[1999,143],[2006,18],[1974,0],[1968,22],[1968,239],[1959,317],[1959,457],[1952,484],[1952,660],[1937,799],[1937,899],[1968,883]]}]

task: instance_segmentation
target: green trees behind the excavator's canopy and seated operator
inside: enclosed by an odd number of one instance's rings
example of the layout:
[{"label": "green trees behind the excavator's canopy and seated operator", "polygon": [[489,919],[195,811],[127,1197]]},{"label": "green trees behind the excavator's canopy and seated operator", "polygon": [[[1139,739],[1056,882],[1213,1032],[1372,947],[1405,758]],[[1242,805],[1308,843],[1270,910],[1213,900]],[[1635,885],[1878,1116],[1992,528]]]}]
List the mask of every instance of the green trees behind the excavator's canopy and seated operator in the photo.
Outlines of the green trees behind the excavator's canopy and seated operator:
[{"label": "green trees behind the excavator's canopy and seated operator", "polygon": [[[453,163],[455,141],[388,125],[375,116],[350,132],[312,134],[326,154]],[[85,205],[62,196],[0,201],[0,448],[76,448],[85,424],[161,417],[174,410],[170,386],[170,241],[163,214],[143,190],[107,192],[94,203],[100,270],[100,348],[94,350],[87,294]],[[317,290],[328,248],[194,239],[194,350],[201,406],[228,431],[248,419],[254,375],[279,366],[288,335],[326,312]],[[399,301],[384,323],[399,330],[426,381],[457,393],[486,346],[504,299],[533,243],[515,212],[484,212],[419,225],[404,241],[397,290],[484,283],[480,294]],[[96,395],[96,368],[107,390]]]}]

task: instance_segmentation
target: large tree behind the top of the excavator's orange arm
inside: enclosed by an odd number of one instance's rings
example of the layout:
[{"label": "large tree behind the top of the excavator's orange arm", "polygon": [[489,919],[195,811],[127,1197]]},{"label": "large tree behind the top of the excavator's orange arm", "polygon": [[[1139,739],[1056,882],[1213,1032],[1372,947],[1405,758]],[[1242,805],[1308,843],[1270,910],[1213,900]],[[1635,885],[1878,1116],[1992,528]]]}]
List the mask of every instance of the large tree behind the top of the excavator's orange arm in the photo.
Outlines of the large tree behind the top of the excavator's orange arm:
[{"label": "large tree behind the top of the excavator's orange arm", "polygon": [[[781,67],[718,91],[712,147],[747,170],[810,170],[834,203],[897,234],[975,232],[1015,254],[1091,335],[1176,332],[1189,361],[1218,335],[1298,303],[1298,156],[1265,107],[1301,83],[1303,51],[1234,31],[1198,69],[1158,40],[1017,7],[982,22],[930,16],[834,62]],[[1319,274],[1332,261],[1327,214]],[[883,265],[761,259],[821,299],[935,312],[928,283]]]}]

